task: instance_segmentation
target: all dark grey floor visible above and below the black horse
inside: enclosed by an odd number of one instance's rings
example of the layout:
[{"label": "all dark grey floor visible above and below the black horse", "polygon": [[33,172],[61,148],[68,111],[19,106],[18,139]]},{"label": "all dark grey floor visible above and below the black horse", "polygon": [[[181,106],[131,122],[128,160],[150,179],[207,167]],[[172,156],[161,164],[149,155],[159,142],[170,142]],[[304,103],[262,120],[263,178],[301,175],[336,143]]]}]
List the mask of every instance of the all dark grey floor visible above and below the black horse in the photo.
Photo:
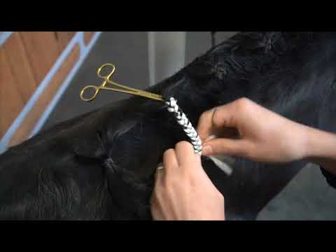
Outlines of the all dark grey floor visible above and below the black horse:
[{"label": "all dark grey floor visible above and below the black horse", "polygon": [[[237,31],[221,31],[216,43]],[[57,104],[44,128],[73,118],[104,104],[123,99],[126,94],[102,92],[94,102],[82,102],[80,89],[97,85],[96,70],[105,62],[118,68],[115,80],[137,88],[148,87],[148,45],[146,32],[105,32],[99,38],[68,90]],[[211,46],[208,32],[188,32],[186,63],[202,55]],[[336,220],[336,190],[330,188],[318,167],[308,165],[262,210],[258,220]]]}]

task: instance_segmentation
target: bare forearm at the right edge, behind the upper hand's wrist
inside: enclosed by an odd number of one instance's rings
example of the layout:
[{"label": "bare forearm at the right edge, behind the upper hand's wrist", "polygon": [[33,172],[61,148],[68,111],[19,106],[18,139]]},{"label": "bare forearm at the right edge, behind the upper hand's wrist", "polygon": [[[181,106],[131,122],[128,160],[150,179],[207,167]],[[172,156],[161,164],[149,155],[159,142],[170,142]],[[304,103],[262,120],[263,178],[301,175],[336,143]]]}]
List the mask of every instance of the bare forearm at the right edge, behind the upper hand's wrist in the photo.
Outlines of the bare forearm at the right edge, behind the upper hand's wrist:
[{"label": "bare forearm at the right edge, behind the upper hand's wrist", "polygon": [[336,134],[305,127],[306,157],[328,172],[336,175]]}]

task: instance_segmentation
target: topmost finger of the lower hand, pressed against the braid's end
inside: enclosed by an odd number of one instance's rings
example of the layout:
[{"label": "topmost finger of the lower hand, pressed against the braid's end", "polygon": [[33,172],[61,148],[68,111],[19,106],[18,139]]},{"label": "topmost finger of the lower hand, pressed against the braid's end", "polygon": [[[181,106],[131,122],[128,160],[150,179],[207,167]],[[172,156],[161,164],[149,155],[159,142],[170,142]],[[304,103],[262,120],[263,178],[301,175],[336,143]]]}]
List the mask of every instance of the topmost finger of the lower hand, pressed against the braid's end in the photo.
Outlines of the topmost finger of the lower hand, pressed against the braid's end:
[{"label": "topmost finger of the lower hand, pressed against the braid's end", "polygon": [[195,164],[196,155],[193,145],[188,141],[181,141],[175,146],[175,153],[179,166],[190,167]]}]

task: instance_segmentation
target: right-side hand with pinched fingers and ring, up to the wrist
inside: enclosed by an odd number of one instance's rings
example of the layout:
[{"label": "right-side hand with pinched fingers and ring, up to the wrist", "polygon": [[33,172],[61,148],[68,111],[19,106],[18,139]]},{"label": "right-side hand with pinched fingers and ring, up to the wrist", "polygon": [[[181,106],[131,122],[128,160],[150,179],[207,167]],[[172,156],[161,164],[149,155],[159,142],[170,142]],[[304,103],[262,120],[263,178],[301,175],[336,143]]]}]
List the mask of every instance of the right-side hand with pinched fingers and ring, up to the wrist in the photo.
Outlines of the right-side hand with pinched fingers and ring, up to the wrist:
[{"label": "right-side hand with pinched fingers and ring, up to the wrist", "polygon": [[[306,156],[308,128],[241,98],[204,112],[197,132],[204,146],[203,155],[235,155],[281,163]],[[219,138],[207,141],[213,134]]]}]

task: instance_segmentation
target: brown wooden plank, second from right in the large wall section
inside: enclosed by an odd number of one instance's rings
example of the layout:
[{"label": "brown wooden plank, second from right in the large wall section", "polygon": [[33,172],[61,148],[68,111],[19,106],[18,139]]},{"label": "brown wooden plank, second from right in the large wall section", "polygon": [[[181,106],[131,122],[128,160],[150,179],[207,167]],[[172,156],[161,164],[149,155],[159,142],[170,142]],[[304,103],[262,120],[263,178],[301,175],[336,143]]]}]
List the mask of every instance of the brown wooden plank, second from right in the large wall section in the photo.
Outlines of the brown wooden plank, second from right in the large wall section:
[{"label": "brown wooden plank, second from right in the large wall section", "polygon": [[41,83],[59,57],[58,43],[53,31],[20,31],[31,63],[34,78]]}]

